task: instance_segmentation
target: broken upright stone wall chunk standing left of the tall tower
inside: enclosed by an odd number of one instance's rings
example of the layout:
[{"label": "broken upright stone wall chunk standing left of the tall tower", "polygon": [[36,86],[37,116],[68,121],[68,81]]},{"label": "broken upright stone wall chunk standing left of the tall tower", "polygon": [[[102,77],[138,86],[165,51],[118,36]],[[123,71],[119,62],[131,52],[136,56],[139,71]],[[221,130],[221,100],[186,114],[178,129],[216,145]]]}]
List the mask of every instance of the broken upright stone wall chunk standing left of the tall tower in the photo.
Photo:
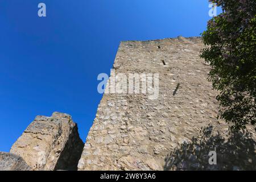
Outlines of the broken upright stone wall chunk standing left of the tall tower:
[{"label": "broken upright stone wall chunk standing left of the tall tower", "polygon": [[37,116],[10,153],[21,156],[32,170],[77,169],[84,143],[68,114]]}]

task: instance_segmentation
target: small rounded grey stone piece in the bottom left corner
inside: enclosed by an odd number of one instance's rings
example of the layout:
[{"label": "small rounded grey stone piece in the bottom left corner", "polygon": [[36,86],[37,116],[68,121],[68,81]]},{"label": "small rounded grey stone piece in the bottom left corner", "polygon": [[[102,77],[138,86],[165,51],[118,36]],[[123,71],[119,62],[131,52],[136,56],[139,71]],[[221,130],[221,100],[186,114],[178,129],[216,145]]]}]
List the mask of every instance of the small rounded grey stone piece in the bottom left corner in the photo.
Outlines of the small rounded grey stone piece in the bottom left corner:
[{"label": "small rounded grey stone piece in the bottom left corner", "polygon": [[15,154],[0,152],[0,171],[30,171],[24,160]]}]

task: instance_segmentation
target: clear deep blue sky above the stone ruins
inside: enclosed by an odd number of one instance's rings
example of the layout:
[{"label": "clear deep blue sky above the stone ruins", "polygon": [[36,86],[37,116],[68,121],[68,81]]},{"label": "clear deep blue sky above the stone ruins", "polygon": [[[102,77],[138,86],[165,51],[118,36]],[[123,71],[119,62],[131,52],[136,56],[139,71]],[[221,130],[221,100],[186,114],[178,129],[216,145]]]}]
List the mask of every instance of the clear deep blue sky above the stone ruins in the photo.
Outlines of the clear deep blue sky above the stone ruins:
[{"label": "clear deep blue sky above the stone ruins", "polygon": [[[39,18],[38,4],[47,17]],[[200,36],[208,0],[0,0],[0,151],[36,115],[71,114],[85,140],[121,40]]]}]

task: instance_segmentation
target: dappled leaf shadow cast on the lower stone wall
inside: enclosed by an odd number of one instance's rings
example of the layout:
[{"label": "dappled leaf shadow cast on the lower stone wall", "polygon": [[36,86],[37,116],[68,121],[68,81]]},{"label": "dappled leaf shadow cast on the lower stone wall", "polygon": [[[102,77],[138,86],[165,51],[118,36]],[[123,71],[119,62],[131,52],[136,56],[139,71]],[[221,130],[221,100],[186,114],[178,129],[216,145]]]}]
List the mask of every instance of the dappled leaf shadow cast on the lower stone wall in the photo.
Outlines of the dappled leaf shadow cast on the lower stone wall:
[{"label": "dappled leaf shadow cast on the lower stone wall", "polygon": [[[213,126],[201,128],[199,137],[183,143],[165,158],[164,170],[256,170],[256,142],[247,131],[229,130],[215,135]],[[216,151],[217,164],[210,165],[208,155]]]}]

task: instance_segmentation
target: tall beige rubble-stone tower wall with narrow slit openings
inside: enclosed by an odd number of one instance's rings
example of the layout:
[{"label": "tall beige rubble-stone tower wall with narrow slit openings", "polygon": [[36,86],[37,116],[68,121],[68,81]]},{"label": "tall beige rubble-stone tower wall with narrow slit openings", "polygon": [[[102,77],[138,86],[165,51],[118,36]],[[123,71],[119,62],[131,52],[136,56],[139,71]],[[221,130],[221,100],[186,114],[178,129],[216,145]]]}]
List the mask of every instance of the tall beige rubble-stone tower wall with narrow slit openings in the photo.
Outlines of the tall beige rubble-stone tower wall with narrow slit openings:
[{"label": "tall beige rubble-stone tower wall with narrow slit openings", "polygon": [[[216,119],[217,92],[201,48],[200,38],[121,42],[115,74],[159,73],[159,97],[104,94],[79,170],[256,169],[255,133],[234,136]],[[218,164],[210,166],[212,150]]]}]

